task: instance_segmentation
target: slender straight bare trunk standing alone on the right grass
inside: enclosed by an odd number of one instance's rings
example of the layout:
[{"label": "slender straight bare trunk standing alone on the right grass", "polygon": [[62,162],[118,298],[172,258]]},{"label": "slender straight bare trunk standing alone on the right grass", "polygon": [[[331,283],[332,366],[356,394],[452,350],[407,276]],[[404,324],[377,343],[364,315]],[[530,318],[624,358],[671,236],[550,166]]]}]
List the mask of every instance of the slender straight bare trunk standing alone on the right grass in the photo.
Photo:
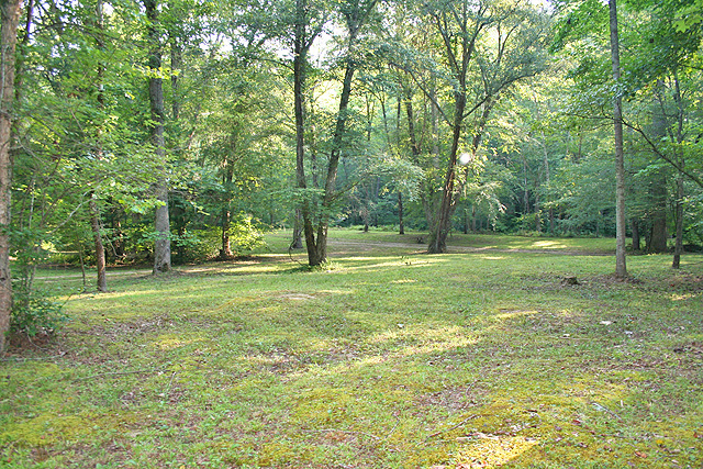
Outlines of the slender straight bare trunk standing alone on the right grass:
[{"label": "slender straight bare trunk standing alone on the right grass", "polygon": [[611,26],[611,60],[613,64],[613,80],[615,81],[615,97],[613,103],[613,127],[615,136],[615,276],[624,279],[627,277],[627,263],[625,259],[626,232],[625,232],[625,154],[623,150],[623,99],[620,92],[620,37],[617,34],[617,5],[616,0],[609,1]]}]

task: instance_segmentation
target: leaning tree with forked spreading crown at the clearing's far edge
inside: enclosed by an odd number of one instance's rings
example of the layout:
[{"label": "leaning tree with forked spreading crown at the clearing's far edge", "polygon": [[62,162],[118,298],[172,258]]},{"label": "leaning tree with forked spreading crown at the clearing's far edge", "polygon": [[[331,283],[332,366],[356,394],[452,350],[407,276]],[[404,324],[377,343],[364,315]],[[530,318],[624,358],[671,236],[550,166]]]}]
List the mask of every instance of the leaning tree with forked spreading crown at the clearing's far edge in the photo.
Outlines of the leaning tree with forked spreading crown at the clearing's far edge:
[{"label": "leaning tree with forked spreading crown at the clearing's far edge", "polygon": [[423,86],[451,135],[440,200],[427,247],[429,253],[444,253],[456,208],[457,163],[466,137],[465,122],[475,116],[466,150],[476,154],[501,93],[544,69],[540,44],[546,23],[542,13],[517,3],[440,1],[425,3],[423,11],[442,44],[438,62],[448,67],[448,74],[437,70],[434,75],[449,78],[451,97],[450,109],[443,108],[432,88]]}]

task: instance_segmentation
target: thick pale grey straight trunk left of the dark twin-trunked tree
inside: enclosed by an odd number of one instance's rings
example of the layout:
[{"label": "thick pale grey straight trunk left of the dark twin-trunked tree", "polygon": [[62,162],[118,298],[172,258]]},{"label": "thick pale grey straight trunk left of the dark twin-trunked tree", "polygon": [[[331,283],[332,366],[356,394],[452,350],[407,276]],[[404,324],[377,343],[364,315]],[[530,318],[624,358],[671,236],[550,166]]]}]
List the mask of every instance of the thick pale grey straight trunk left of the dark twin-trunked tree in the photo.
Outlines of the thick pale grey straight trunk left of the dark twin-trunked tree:
[{"label": "thick pale grey straight trunk left of the dark twin-trunked tree", "polygon": [[[149,77],[149,102],[152,108],[152,144],[159,164],[160,170],[166,172],[166,142],[164,138],[164,88],[163,80],[158,76],[161,67],[161,44],[158,31],[158,0],[144,0],[146,16],[148,19],[147,35],[149,45],[148,68],[153,75]],[[154,227],[156,239],[154,241],[154,275],[167,272],[171,269],[171,242],[170,222],[168,217],[168,182],[161,174],[156,182],[156,208]]]}]

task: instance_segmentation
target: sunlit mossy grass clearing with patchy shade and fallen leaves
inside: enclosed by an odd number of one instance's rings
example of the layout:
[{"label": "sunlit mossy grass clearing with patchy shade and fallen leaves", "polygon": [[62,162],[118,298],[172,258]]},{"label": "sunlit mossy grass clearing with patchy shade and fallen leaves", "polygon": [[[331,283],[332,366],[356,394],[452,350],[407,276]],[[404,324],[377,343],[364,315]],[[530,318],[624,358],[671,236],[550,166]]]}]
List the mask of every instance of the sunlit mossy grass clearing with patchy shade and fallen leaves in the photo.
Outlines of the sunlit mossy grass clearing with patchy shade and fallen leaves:
[{"label": "sunlit mossy grass clearing with patchy shade and fallen leaves", "polygon": [[55,343],[0,362],[0,467],[703,465],[703,256],[620,283],[572,255],[602,239],[417,236],[335,231],[308,271],[279,233],[71,297]]}]

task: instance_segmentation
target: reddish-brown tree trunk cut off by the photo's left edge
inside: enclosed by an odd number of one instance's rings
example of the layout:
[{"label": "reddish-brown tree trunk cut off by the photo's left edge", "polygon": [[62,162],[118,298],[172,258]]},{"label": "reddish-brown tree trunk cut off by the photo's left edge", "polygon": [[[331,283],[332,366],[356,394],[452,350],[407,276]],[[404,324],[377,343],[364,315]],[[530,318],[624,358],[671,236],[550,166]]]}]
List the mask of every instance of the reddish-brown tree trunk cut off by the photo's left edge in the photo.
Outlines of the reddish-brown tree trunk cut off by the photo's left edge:
[{"label": "reddish-brown tree trunk cut off by the photo's left edge", "polygon": [[14,71],[18,23],[22,0],[2,0],[0,35],[0,353],[5,347],[12,313],[10,275],[10,193],[12,190],[12,125],[14,122]]}]

